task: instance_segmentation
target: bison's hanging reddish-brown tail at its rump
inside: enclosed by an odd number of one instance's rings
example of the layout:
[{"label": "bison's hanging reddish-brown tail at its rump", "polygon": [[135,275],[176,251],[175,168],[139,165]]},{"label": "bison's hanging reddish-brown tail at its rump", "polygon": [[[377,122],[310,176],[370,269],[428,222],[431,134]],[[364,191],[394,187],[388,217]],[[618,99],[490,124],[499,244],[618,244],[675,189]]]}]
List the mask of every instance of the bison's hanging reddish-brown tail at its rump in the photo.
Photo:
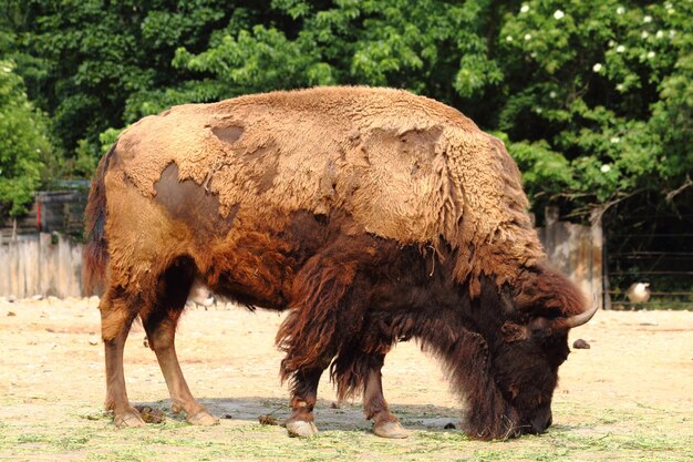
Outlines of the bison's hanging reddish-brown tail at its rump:
[{"label": "bison's hanging reddish-brown tail at its rump", "polygon": [[104,289],[108,251],[105,236],[106,189],[104,177],[115,152],[115,144],[101,158],[89,192],[89,202],[84,212],[86,245],[84,247],[83,287],[84,295],[101,294]]}]

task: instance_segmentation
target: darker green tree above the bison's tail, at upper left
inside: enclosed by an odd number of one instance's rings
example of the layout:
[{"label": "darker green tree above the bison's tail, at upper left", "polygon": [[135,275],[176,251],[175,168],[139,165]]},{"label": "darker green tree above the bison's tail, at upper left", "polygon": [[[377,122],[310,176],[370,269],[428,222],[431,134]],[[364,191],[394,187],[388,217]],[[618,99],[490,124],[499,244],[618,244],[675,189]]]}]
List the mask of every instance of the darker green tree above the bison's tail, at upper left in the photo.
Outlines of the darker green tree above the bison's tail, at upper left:
[{"label": "darker green tree above the bison's tail, at upper left", "polygon": [[[18,72],[30,97],[51,114],[69,157],[99,153],[100,134],[123,126],[126,101],[176,83],[175,49],[207,43],[225,17],[221,0],[0,0],[15,35]],[[145,103],[146,106],[146,103]]]}]

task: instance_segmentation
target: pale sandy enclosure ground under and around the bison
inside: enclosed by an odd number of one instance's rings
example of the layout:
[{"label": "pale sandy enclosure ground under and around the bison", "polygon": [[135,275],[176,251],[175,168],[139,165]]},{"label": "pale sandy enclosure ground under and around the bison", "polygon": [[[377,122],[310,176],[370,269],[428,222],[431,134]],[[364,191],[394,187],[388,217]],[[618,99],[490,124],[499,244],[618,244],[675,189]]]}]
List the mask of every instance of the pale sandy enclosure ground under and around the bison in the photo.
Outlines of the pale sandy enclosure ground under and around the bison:
[{"label": "pale sandy enclosure ground under and around the bison", "polygon": [[[95,300],[0,300],[0,460],[11,461],[691,461],[693,312],[600,311],[571,333],[554,425],[539,437],[479,442],[458,430],[459,404],[437,362],[414,343],[387,356],[385,396],[412,433],[369,432],[360,400],[333,409],[321,383],[317,438],[290,439],[261,425],[288,414],[273,336],[282,317],[240,308],[193,309],[178,353],[193,392],[218,417],[211,428],[170,414],[154,353],[135,327],[125,351],[130,399],[166,411],[161,424],[117,430],[102,411],[103,346]],[[230,419],[225,418],[230,417]]]}]

